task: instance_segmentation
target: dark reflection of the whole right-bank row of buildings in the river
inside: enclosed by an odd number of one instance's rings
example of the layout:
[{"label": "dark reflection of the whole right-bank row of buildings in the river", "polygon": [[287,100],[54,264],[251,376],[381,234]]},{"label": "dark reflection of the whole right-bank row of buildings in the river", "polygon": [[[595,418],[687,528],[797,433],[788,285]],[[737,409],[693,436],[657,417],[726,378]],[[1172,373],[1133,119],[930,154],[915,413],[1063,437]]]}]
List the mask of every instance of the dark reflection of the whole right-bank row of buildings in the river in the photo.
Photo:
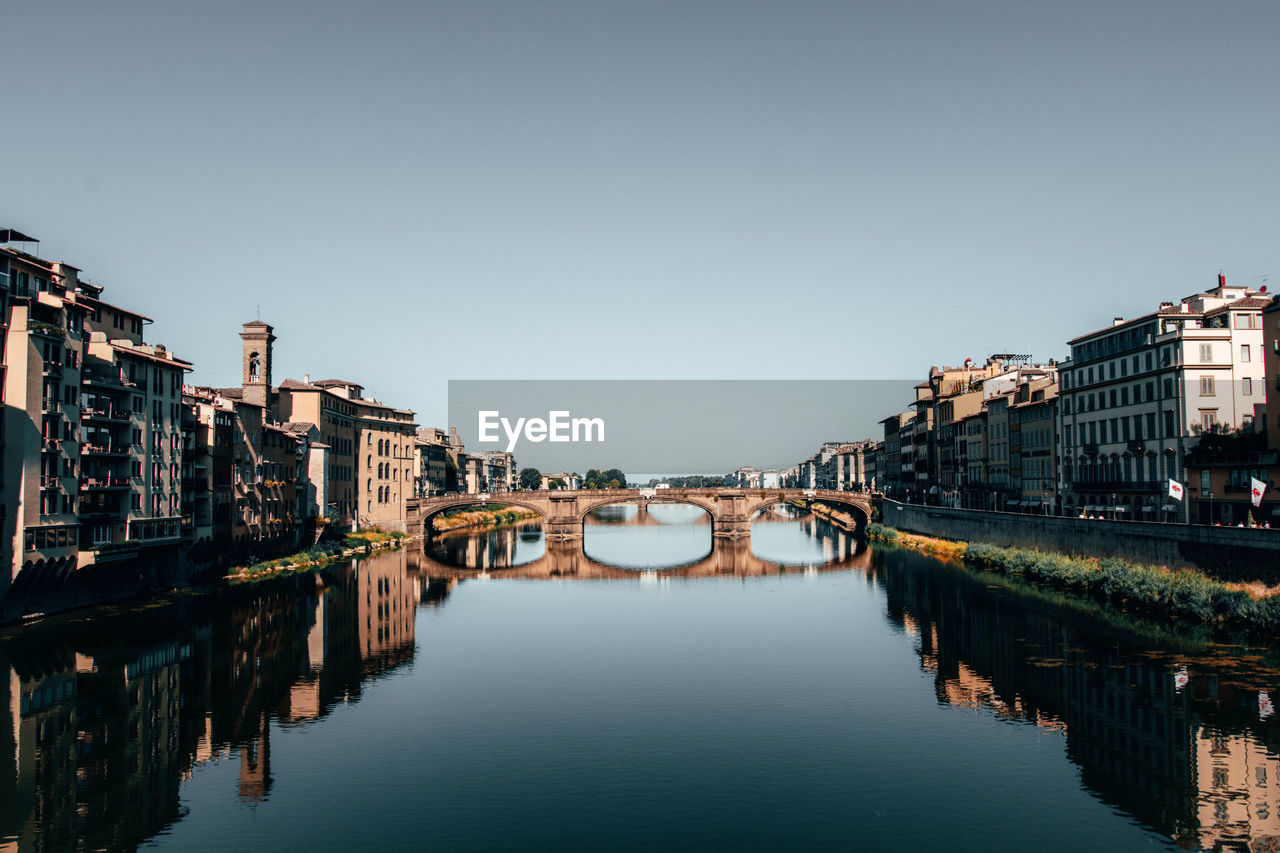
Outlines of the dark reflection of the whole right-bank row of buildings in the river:
[{"label": "dark reflection of the whole right-bank row of buildings in the river", "polygon": [[1256,693],[1213,676],[1179,689],[1169,662],[1078,612],[1011,601],[919,555],[877,562],[890,620],[915,638],[940,702],[1059,729],[1091,790],[1181,845],[1280,836],[1280,761]]}]

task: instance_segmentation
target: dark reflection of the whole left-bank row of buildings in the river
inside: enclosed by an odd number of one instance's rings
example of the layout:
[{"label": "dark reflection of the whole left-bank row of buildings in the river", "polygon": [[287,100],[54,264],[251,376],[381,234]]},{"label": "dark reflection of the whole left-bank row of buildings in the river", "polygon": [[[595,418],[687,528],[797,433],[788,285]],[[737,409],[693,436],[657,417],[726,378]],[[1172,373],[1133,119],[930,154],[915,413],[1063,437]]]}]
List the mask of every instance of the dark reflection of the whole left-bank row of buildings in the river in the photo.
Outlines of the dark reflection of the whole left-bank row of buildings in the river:
[{"label": "dark reflection of the whole left-bank row of buildings in the river", "polygon": [[305,725],[413,656],[406,553],[0,640],[0,849],[132,849],[201,765],[268,799],[271,726]]}]

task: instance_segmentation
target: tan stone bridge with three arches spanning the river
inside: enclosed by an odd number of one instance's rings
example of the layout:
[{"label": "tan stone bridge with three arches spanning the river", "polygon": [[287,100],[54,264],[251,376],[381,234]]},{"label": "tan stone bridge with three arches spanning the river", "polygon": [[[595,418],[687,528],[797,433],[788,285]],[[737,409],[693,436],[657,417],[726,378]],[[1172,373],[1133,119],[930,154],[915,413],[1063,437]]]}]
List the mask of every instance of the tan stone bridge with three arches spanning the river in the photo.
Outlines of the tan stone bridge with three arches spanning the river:
[{"label": "tan stone bridge with three arches spanning the river", "polygon": [[836,492],[832,489],[579,489],[539,492],[494,492],[493,494],[439,494],[436,497],[410,498],[406,529],[429,539],[434,535],[431,519],[456,507],[500,503],[518,506],[541,517],[543,533],[548,540],[579,539],[582,537],[582,519],[591,510],[612,503],[639,503],[641,508],[650,501],[663,503],[689,503],[704,510],[712,520],[712,535],[740,538],[751,535],[751,520],[763,510],[787,501],[801,503],[820,502],[844,512],[856,521],[860,533],[872,515],[870,494],[865,492]]}]

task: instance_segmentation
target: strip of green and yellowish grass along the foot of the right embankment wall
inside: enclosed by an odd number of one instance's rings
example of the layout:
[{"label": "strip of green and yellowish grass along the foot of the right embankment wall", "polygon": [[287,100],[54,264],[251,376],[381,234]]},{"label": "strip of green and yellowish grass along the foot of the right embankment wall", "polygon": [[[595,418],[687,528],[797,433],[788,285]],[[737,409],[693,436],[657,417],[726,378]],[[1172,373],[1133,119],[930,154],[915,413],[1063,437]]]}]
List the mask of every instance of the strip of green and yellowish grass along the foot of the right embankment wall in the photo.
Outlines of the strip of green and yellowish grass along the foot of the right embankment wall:
[{"label": "strip of green and yellowish grass along the foot of the right embankment wall", "polygon": [[1116,557],[1070,557],[982,542],[950,542],[902,533],[883,524],[868,525],[867,535],[916,551],[959,557],[982,569],[1071,590],[1125,610],[1280,634],[1280,594],[1215,580],[1190,569],[1170,570]]}]

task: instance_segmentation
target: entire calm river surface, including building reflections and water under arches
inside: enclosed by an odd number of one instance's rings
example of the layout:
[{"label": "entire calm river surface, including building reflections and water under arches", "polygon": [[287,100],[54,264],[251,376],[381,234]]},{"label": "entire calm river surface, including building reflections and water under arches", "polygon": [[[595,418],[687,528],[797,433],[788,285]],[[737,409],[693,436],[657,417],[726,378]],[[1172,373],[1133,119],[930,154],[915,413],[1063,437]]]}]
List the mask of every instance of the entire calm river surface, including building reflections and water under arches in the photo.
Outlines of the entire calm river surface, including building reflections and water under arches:
[{"label": "entire calm river surface, including building reflections and water under arches", "polygon": [[0,639],[0,850],[1270,849],[1276,657],[612,507]]}]

